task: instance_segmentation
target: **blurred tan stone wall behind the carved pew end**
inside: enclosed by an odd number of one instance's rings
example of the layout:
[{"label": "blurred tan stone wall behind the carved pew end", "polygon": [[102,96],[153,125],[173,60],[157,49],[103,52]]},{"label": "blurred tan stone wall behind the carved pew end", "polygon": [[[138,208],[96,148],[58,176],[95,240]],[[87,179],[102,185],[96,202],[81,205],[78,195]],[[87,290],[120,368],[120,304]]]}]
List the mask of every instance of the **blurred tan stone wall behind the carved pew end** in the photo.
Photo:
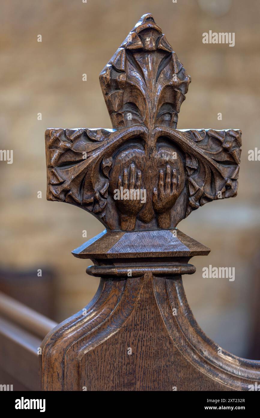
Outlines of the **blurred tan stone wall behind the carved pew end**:
[{"label": "blurred tan stone wall behind the carved pew end", "polygon": [[[2,267],[35,268],[35,275],[54,268],[57,321],[95,293],[98,279],[85,273],[91,262],[70,252],[86,241],[83,229],[90,239],[103,226],[72,205],[46,201],[44,131],[111,127],[98,75],[140,16],[153,13],[192,76],[178,128],[242,130],[238,196],[206,204],[179,229],[212,250],[194,257],[197,272],[184,277],[195,318],[220,346],[250,355],[259,317],[260,162],[248,161],[247,152],[260,148],[260,2],[5,0],[0,9],[0,148],[13,149],[13,164],[0,162]],[[235,32],[235,46],[203,44],[210,30]],[[209,264],[235,267],[235,281],[203,279]]]}]

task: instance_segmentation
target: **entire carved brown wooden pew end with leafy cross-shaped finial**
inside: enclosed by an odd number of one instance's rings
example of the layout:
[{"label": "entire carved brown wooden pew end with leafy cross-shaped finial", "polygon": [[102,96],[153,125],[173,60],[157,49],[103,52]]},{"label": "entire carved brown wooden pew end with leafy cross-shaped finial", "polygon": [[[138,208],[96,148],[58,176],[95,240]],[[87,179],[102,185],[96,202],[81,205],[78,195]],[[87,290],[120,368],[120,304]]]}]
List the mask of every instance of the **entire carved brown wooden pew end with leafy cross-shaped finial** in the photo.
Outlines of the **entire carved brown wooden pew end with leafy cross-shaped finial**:
[{"label": "entire carved brown wooden pew end with leafy cross-shaped finial", "polygon": [[204,335],[182,286],[190,258],[210,250],[176,226],[236,196],[241,153],[240,130],[176,129],[190,81],[144,15],[100,74],[113,129],[46,130],[47,199],[91,212],[106,230],[73,251],[101,282],[43,340],[43,390],[248,390],[260,380],[260,362]]}]

